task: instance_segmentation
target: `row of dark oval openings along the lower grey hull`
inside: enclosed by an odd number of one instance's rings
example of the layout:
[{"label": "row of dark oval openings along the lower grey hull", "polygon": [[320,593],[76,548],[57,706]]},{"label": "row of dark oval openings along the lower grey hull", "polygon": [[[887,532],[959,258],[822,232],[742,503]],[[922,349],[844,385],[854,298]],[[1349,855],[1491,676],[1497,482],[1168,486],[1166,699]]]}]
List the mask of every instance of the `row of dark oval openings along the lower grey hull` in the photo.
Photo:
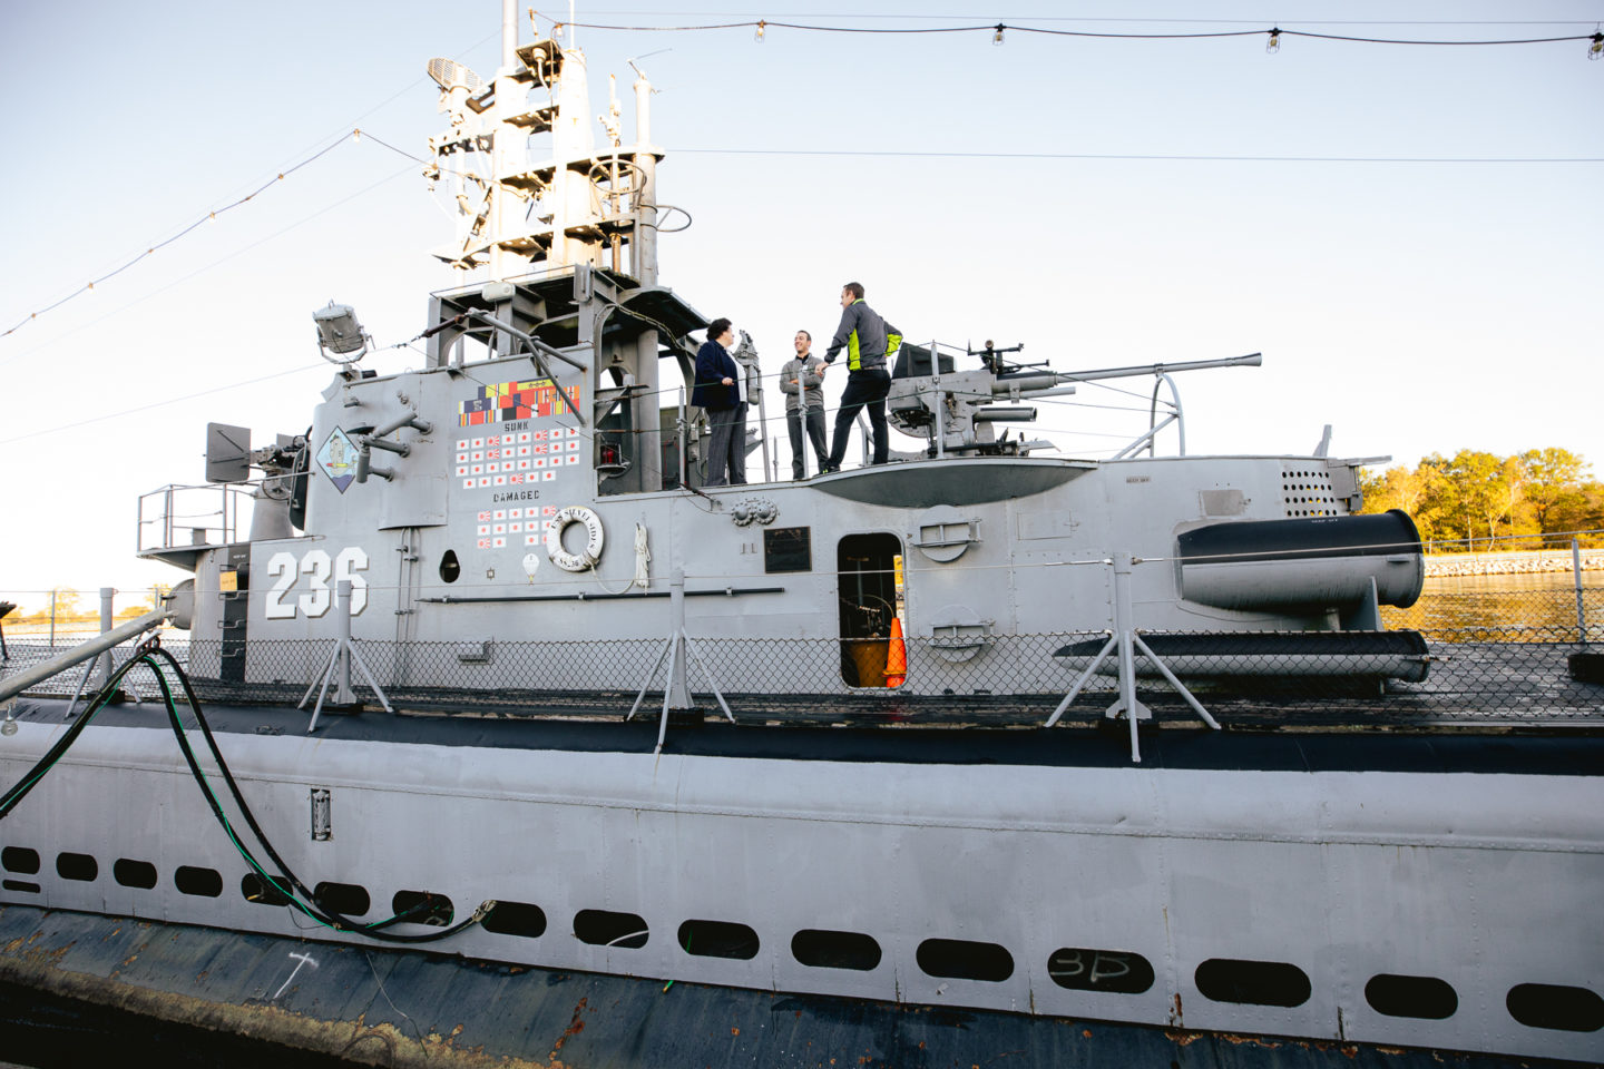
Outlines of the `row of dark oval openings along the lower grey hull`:
[{"label": "row of dark oval openings along the lower grey hull", "polygon": [[[38,853],[26,846],[0,851],[6,872],[34,875],[40,869]],[[56,856],[56,873],[64,880],[90,881],[99,877],[95,857],[77,853]],[[112,865],[112,878],[127,888],[152,889],[156,865],[146,861],[120,859]],[[38,893],[40,886],[6,878],[6,891]],[[215,869],[180,865],[173,886],[183,894],[218,898],[223,877]],[[261,906],[287,906],[289,899],[266,880],[250,872],[241,878],[241,896]],[[363,917],[372,907],[366,888],[353,883],[319,883],[318,904],[346,917]],[[444,894],[431,891],[398,891],[391,910],[406,914],[420,925],[451,925],[456,907]],[[534,939],[545,934],[545,910],[528,902],[499,901],[481,920],[496,934]],[[678,946],[695,957],[747,960],[757,957],[760,939],[747,925],[723,920],[687,920],[678,928]],[[651,931],[643,917],[602,909],[574,914],[574,938],[581,942],[621,950],[646,946]],[[791,938],[791,955],[812,968],[869,971],[881,963],[881,944],[857,931],[808,928]],[[994,942],[970,939],[926,939],[914,954],[921,971],[940,979],[970,979],[998,984],[1014,974],[1014,955]],[[1153,986],[1153,966],[1131,950],[1096,950],[1062,947],[1047,958],[1047,976],[1060,987],[1107,994],[1139,995]],[[1198,965],[1193,981],[1205,998],[1225,1003],[1264,1006],[1299,1006],[1309,1000],[1309,976],[1288,962],[1253,962],[1243,958],[1209,958]],[[1447,1019],[1460,1008],[1453,986],[1436,976],[1378,974],[1365,984],[1365,1002],[1392,1018]],[[1516,984],[1505,1005],[1521,1024],[1567,1032],[1594,1032],[1604,1027],[1604,998],[1586,987],[1564,984]]]}]

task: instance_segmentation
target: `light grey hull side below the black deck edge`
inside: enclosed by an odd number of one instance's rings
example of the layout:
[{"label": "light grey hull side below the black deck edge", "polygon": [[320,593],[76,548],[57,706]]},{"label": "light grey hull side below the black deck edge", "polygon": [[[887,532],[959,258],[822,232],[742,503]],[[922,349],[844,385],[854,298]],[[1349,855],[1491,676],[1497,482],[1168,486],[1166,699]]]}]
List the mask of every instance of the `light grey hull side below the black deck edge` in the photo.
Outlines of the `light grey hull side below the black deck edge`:
[{"label": "light grey hull side below the black deck edge", "polygon": [[[53,729],[6,740],[11,781]],[[1604,880],[1598,777],[1434,771],[1298,773],[789,761],[662,753],[431,747],[233,736],[231,764],[292,865],[358,883],[369,920],[399,891],[446,894],[457,915],[488,899],[539,906],[539,938],[470,928],[439,950],[557,970],[759,990],[967,1006],[1051,1018],[1590,1058],[1598,1034],[1533,1029],[1498,1010],[1519,984],[1590,987],[1604,944],[1572,923]],[[314,841],[308,792],[330,792]],[[95,814],[95,819],[87,819]],[[210,824],[159,731],[96,728],[3,827],[38,849],[37,886],[8,901],[269,934],[303,934],[284,907],[241,894],[244,864]],[[51,870],[61,853],[98,875]],[[114,862],[152,861],[156,888]],[[221,873],[218,898],[184,894],[178,865]],[[582,910],[638,917],[638,949],[595,946]],[[746,925],[755,957],[683,949],[687,923]],[[810,968],[800,931],[865,933],[869,970]],[[350,939],[334,933],[330,938]],[[1006,976],[930,973],[932,939],[1001,947]],[[1142,992],[1052,979],[1065,947],[1136,954]],[[693,944],[695,950],[695,944]],[[1209,998],[1214,958],[1285,962],[1299,1005]],[[1429,976],[1461,1010],[1442,1021],[1381,1015],[1368,978]]]}]

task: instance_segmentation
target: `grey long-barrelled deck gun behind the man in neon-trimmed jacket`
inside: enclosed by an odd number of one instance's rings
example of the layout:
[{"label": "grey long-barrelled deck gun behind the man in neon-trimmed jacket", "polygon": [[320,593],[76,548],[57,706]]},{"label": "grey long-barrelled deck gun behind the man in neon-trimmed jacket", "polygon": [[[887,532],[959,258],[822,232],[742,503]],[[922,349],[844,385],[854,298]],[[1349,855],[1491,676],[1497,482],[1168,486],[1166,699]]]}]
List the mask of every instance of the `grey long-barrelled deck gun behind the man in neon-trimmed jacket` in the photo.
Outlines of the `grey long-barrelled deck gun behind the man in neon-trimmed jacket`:
[{"label": "grey long-barrelled deck gun behind the man in neon-trimmed jacket", "polygon": [[[1033,405],[1019,404],[1023,399],[1060,397],[1075,393],[1075,383],[1102,378],[1134,378],[1153,375],[1153,420],[1148,431],[1132,442],[1132,447],[1152,444],[1153,434],[1181,420],[1181,396],[1171,372],[1203,370],[1209,367],[1258,367],[1262,354],[1233,356],[1222,361],[1182,361],[1179,364],[1144,364],[1134,367],[1104,367],[1086,372],[1054,372],[1046,364],[1019,365],[1003,359],[1003,353],[1017,353],[1023,346],[996,349],[988,341],[980,353],[966,348],[967,356],[980,356],[982,367],[970,372],[954,372],[953,357],[938,346],[921,348],[903,343],[892,372],[892,388],[885,397],[892,425],[914,438],[924,438],[926,454],[1011,455],[1022,457],[1031,449],[1049,447],[1044,441],[1011,439],[998,423],[1030,423],[1036,418]],[[1169,383],[1173,412],[1158,420],[1158,386]],[[1185,439],[1182,438],[1182,442]],[[1185,447],[1182,446],[1182,452]]]}]

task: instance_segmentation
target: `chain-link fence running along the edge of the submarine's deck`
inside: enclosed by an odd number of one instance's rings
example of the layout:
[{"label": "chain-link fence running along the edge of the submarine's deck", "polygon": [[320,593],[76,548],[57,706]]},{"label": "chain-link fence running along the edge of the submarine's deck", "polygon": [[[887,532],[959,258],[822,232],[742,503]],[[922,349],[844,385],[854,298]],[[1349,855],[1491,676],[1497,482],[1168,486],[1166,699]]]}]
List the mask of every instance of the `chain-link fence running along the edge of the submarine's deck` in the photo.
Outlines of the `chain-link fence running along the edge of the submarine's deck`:
[{"label": "chain-link fence running along the edge of the submarine's deck", "polygon": [[[1586,574],[1585,574],[1586,575]],[[1440,577],[1408,609],[1383,607],[1389,631],[1137,633],[1227,728],[1557,721],[1604,715],[1604,686],[1575,680],[1567,659],[1604,647],[1604,582],[1570,575]],[[98,627],[91,628],[98,631]],[[191,639],[164,631],[207,702],[297,704],[329,670],[334,639]],[[14,672],[88,635],[42,636],[6,627]],[[908,723],[1028,726],[1051,716],[1084,675],[1065,721],[1104,720],[1118,699],[1107,631],[978,633],[964,641],[698,638],[687,683],[717,715],[717,691],[743,723]],[[606,641],[383,643],[356,639],[363,662],[403,710],[446,715],[622,718],[637,697],[656,716],[667,686],[667,636]],[[130,654],[122,647],[114,664]],[[1195,721],[1185,699],[1137,652],[1137,696],[1158,721]],[[88,675],[85,676],[85,672]],[[40,688],[85,692],[90,662]],[[3,678],[3,676],[0,676]],[[898,683],[900,678],[900,683]],[[353,688],[377,702],[361,672]],[[887,686],[887,683],[893,686]],[[148,673],[132,692],[156,697]],[[642,696],[643,692],[643,696]],[[330,688],[332,694],[332,688]],[[308,702],[310,707],[310,702]]]}]

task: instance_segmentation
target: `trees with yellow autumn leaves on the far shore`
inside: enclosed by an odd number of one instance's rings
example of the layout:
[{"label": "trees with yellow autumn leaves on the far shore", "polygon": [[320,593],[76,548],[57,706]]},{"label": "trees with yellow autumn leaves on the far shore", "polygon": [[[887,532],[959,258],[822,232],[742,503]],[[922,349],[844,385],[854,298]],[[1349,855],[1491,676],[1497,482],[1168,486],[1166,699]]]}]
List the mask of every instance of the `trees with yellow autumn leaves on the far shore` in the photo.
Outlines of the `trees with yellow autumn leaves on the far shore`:
[{"label": "trees with yellow autumn leaves on the far shore", "polygon": [[[1360,478],[1367,513],[1402,508],[1439,551],[1490,550],[1493,539],[1532,535],[1532,545],[1570,545],[1569,532],[1604,529],[1604,482],[1569,449],[1529,449],[1500,457],[1461,449],[1432,454],[1413,470],[1387,468]],[[1540,535],[1556,535],[1540,539]],[[1557,537],[1564,535],[1564,537]],[[1580,535],[1604,545],[1604,535]]]}]

